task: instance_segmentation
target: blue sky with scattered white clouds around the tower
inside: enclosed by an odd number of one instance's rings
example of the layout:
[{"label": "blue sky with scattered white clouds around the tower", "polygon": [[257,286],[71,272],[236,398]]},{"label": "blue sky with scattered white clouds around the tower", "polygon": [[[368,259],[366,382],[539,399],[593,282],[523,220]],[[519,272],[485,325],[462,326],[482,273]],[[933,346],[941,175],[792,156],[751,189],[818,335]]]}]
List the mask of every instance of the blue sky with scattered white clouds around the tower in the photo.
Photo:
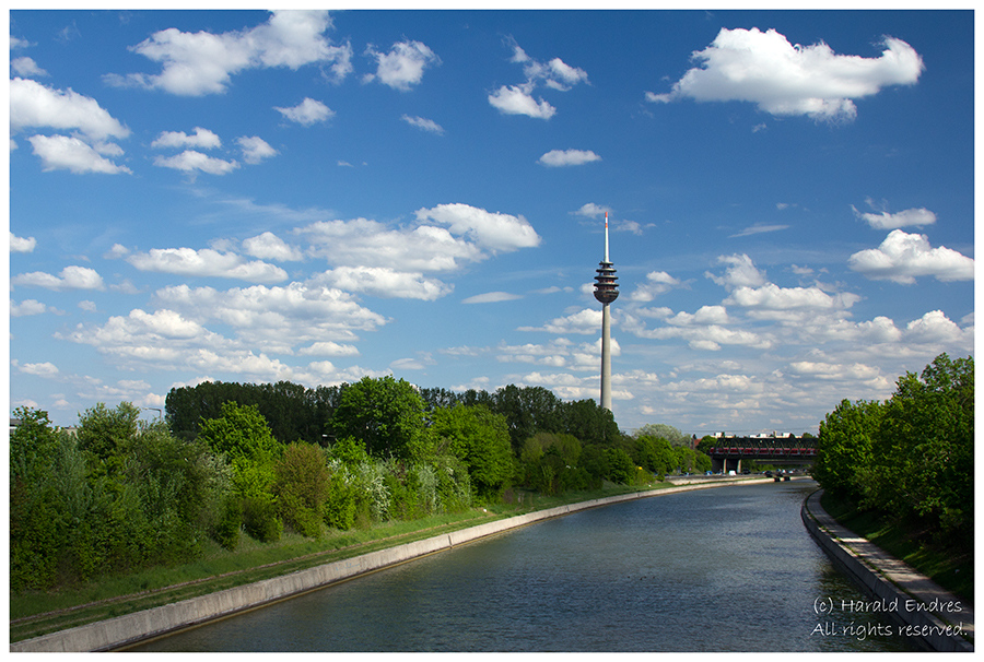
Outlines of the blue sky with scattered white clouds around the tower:
[{"label": "blue sky with scattered white clouds around the tower", "polygon": [[544,387],[805,432],[974,352],[970,11],[11,11],[10,407]]}]

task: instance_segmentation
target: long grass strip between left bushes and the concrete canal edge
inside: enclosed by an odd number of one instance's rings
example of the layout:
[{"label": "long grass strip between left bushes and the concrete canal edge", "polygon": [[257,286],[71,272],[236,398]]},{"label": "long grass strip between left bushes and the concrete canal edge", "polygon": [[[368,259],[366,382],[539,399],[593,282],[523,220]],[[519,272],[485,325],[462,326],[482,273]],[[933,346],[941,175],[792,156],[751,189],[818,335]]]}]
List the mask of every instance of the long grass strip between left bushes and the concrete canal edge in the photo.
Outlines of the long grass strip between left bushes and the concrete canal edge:
[{"label": "long grass strip between left bushes and the concrete canal edge", "polygon": [[368,529],[331,530],[318,540],[284,533],[277,543],[259,543],[243,534],[235,552],[227,552],[210,542],[202,557],[194,563],[101,577],[51,591],[11,594],[10,641],[30,639],[288,575],[487,521],[564,504],[670,486],[670,483],[641,487],[606,483],[600,490],[571,492],[555,496],[518,493],[513,504],[485,505],[465,512],[412,521],[395,520]]}]

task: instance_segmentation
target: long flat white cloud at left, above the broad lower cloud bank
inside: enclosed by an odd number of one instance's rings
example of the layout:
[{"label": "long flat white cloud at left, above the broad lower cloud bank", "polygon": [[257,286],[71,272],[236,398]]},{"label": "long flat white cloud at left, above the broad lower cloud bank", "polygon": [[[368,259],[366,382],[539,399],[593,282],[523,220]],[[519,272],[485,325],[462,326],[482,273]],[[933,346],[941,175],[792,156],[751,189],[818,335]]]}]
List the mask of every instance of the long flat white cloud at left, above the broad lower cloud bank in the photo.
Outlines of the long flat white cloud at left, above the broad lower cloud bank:
[{"label": "long flat white cloud at left, above the broad lower cloud bank", "polygon": [[253,283],[278,283],[288,277],[285,271],[273,264],[247,262],[235,253],[210,248],[152,248],[149,252],[129,256],[127,262],[140,271],[237,279]]}]

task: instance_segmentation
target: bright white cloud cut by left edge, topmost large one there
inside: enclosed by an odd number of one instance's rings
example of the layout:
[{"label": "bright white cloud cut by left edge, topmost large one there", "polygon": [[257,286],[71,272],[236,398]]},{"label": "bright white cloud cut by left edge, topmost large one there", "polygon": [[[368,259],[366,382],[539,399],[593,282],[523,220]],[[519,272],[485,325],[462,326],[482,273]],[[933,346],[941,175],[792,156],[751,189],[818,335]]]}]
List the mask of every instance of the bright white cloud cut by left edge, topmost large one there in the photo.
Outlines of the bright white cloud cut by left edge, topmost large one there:
[{"label": "bright white cloud cut by left edge, topmost large one there", "polygon": [[72,90],[52,90],[35,81],[10,81],[10,129],[48,127],[77,129],[90,141],[127,138],[130,130],[92,97]]}]

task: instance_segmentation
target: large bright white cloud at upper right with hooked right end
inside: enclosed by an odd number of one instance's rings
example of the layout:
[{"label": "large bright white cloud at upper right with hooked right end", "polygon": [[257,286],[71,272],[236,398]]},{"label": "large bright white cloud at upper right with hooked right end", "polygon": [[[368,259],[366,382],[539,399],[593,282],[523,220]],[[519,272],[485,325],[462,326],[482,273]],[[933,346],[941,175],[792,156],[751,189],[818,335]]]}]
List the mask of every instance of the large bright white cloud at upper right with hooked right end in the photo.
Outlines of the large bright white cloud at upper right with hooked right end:
[{"label": "large bright white cloud at upper right with hooked right end", "polygon": [[821,120],[851,120],[853,99],[889,85],[911,85],[923,71],[919,55],[905,42],[886,37],[881,57],[842,56],[822,42],[792,45],[774,29],[722,28],[690,69],[666,94],[646,93],[651,102],[692,98],[740,101],[771,115],[807,115]]}]

